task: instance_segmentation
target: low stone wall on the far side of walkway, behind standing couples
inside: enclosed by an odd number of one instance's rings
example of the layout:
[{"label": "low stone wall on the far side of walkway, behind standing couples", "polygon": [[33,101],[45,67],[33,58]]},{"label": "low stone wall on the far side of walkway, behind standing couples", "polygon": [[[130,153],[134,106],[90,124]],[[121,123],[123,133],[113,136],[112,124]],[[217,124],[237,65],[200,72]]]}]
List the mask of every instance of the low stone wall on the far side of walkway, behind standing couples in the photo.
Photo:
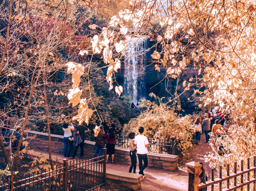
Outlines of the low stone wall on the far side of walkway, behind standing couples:
[{"label": "low stone wall on the far side of walkway, behind standing couples", "polygon": [[[30,148],[35,149],[35,151],[48,152],[48,133],[40,133],[37,131],[26,130],[28,134],[28,143]],[[51,146],[52,153],[63,155],[63,136],[61,135],[51,135]],[[95,152],[95,142],[85,140],[84,142],[85,156],[94,155]],[[72,145],[71,153],[73,153],[74,146]],[[79,150],[78,150],[79,152]],[[78,155],[78,154],[77,154]],[[154,168],[160,168],[165,170],[175,171],[178,169],[178,156],[177,155],[167,155],[158,153],[148,153],[148,166]],[[129,149],[115,147],[115,162],[120,162],[122,164],[130,165],[131,159],[129,157]],[[139,162],[137,161],[137,164]]]}]

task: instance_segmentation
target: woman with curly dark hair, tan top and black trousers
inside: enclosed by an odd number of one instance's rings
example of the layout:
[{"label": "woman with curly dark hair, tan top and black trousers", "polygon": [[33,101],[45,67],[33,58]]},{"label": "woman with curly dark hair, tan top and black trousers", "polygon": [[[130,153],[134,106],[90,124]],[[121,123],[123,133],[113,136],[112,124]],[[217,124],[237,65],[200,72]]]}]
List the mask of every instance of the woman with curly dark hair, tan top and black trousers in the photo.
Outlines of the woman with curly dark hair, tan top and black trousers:
[{"label": "woman with curly dark hair, tan top and black trousers", "polygon": [[136,153],[137,153],[137,146],[134,144],[134,138],[135,138],[135,133],[134,132],[130,132],[128,135],[129,140],[129,150],[130,150],[130,158],[131,158],[131,166],[129,169],[129,172],[132,173],[132,169],[133,169],[133,173],[136,173],[136,166],[137,166],[137,157],[136,157]]}]

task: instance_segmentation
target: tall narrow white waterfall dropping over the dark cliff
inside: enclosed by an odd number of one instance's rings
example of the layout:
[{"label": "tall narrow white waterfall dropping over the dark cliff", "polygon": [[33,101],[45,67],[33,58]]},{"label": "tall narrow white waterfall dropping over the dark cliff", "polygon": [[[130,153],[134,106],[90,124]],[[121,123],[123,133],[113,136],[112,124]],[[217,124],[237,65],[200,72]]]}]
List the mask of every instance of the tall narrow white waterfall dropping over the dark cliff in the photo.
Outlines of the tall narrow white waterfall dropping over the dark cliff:
[{"label": "tall narrow white waterfall dropping over the dark cliff", "polygon": [[129,48],[124,61],[124,96],[136,105],[139,99],[145,98],[147,39],[128,36],[126,44]]}]

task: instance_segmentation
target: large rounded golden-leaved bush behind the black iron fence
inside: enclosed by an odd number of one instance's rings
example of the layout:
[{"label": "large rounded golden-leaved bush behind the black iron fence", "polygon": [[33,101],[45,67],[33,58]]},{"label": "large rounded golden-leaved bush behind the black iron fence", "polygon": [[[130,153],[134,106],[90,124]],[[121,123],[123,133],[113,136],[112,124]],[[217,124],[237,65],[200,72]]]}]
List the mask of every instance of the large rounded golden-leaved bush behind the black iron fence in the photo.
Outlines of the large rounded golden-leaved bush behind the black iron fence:
[{"label": "large rounded golden-leaved bush behind the black iron fence", "polygon": [[191,142],[194,130],[191,115],[179,116],[170,106],[164,104],[158,106],[148,100],[143,100],[141,105],[146,110],[138,118],[133,118],[124,125],[124,136],[128,136],[130,132],[138,133],[138,127],[142,126],[148,138],[170,139],[175,137],[178,141],[178,150],[182,155],[193,147]]}]

